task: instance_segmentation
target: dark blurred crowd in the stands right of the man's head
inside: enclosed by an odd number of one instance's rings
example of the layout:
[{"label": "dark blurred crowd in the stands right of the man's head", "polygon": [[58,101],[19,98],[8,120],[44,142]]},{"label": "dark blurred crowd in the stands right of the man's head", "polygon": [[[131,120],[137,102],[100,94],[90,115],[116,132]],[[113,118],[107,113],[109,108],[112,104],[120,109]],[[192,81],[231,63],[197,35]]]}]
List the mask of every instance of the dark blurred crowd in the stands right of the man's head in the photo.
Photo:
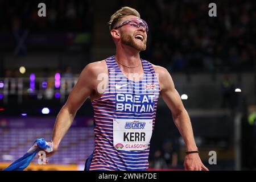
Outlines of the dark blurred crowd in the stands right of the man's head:
[{"label": "dark blurred crowd in the stands right of the man's head", "polygon": [[240,72],[256,66],[255,1],[139,1],[150,27],[145,56],[171,72]]}]

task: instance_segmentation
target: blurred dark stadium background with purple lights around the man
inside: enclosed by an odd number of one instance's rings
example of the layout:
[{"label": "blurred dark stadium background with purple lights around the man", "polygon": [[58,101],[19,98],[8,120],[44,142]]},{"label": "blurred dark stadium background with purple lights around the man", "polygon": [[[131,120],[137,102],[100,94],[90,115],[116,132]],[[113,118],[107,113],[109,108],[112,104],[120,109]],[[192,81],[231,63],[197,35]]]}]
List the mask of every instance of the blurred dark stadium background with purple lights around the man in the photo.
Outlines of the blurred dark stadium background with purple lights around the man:
[{"label": "blurred dark stadium background with purple lights around the man", "polygon": [[[47,16],[38,16],[46,3]],[[212,170],[256,169],[255,1],[0,1],[0,168],[36,138],[51,140],[61,106],[86,64],[114,55],[107,22],[122,6],[150,28],[143,59],[168,69]],[[184,143],[160,99],[151,169],[183,169]],[[82,170],[93,151],[90,101],[49,164],[28,170]],[[217,164],[209,165],[209,151]]]}]

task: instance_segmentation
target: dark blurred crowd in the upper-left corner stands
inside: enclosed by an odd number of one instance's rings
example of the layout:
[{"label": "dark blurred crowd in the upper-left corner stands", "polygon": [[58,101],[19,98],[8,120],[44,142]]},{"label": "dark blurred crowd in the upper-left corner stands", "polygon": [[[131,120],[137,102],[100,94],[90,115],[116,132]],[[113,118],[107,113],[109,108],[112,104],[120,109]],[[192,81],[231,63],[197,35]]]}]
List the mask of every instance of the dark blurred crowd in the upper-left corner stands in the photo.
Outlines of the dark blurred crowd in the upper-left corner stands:
[{"label": "dark blurred crowd in the upper-left corner stands", "polygon": [[[39,3],[46,4],[47,18],[38,18]],[[0,1],[0,30],[22,26],[33,32],[91,31],[90,1]]]}]

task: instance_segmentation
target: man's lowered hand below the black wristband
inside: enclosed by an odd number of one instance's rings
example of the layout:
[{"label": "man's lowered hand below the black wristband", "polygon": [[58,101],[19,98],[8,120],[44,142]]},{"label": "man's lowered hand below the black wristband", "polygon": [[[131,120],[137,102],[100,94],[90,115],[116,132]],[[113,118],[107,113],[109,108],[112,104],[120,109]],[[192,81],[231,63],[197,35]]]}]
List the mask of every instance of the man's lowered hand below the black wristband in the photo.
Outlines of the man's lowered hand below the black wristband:
[{"label": "man's lowered hand below the black wristband", "polygon": [[201,162],[199,154],[186,154],[184,159],[185,171],[209,171],[207,167]]}]

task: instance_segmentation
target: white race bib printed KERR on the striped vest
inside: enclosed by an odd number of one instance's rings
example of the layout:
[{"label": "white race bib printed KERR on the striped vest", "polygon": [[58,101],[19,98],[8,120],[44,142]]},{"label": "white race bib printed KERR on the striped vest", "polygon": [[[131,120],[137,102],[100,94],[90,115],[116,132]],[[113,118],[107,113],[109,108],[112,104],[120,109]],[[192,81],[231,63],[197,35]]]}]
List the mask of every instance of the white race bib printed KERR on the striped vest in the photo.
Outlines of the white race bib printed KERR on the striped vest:
[{"label": "white race bib printed KERR on the striped vest", "polygon": [[114,119],[116,150],[146,150],[152,136],[152,119]]}]

